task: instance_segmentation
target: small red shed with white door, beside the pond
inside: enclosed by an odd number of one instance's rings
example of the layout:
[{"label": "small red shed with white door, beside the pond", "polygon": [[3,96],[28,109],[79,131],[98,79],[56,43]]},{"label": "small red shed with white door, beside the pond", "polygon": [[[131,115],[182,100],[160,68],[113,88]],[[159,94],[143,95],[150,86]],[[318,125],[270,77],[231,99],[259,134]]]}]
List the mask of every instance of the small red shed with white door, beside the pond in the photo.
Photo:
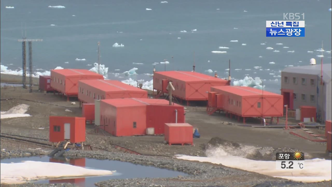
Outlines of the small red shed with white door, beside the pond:
[{"label": "small red shed with white door, beside the pond", "polygon": [[85,141],[85,117],[49,116],[49,141]]}]

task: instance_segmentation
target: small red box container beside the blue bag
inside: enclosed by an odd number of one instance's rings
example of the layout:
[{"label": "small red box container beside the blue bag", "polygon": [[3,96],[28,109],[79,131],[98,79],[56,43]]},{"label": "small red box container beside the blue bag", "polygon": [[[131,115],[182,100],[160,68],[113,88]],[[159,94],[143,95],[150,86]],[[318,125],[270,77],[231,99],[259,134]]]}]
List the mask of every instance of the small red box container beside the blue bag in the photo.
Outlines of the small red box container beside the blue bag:
[{"label": "small red box container beside the blue bag", "polygon": [[193,145],[193,126],[188,123],[165,123],[165,141]]}]

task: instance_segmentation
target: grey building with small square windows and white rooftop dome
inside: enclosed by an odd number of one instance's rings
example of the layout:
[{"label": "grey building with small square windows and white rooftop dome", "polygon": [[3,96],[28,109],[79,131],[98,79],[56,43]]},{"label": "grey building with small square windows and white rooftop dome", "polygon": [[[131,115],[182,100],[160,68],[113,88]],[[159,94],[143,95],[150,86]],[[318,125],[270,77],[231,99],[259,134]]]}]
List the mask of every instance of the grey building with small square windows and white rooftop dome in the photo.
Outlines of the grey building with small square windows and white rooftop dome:
[{"label": "grey building with small square windows and white rooftop dome", "polygon": [[292,110],[304,106],[315,106],[317,121],[331,120],[332,112],[332,64],[287,67],[281,72],[281,94],[284,105]]}]

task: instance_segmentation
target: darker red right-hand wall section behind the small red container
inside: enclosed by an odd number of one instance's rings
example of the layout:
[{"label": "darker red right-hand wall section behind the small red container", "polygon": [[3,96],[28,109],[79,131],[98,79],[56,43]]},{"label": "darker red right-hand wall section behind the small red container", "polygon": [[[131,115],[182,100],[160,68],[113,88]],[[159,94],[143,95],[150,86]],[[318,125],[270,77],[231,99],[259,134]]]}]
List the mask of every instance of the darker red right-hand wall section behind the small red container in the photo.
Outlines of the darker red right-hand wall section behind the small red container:
[{"label": "darker red right-hand wall section behind the small red container", "polygon": [[175,110],[178,110],[178,123],[184,123],[185,115],[183,106],[147,105],[146,128],[153,127],[155,134],[164,134],[165,123],[175,123]]}]

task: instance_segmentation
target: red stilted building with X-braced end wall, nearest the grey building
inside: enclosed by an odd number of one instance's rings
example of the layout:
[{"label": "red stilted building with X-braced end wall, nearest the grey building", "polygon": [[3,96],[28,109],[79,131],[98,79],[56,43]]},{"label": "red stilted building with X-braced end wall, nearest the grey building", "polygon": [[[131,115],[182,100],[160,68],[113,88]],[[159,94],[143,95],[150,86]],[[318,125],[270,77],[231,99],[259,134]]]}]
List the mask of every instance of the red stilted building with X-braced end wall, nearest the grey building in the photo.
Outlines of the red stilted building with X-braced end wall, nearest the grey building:
[{"label": "red stilted building with X-braced end wall, nearest the grey building", "polygon": [[283,116],[283,95],[262,91],[251,87],[219,86],[211,87],[208,93],[208,107],[239,117],[281,117]]}]

